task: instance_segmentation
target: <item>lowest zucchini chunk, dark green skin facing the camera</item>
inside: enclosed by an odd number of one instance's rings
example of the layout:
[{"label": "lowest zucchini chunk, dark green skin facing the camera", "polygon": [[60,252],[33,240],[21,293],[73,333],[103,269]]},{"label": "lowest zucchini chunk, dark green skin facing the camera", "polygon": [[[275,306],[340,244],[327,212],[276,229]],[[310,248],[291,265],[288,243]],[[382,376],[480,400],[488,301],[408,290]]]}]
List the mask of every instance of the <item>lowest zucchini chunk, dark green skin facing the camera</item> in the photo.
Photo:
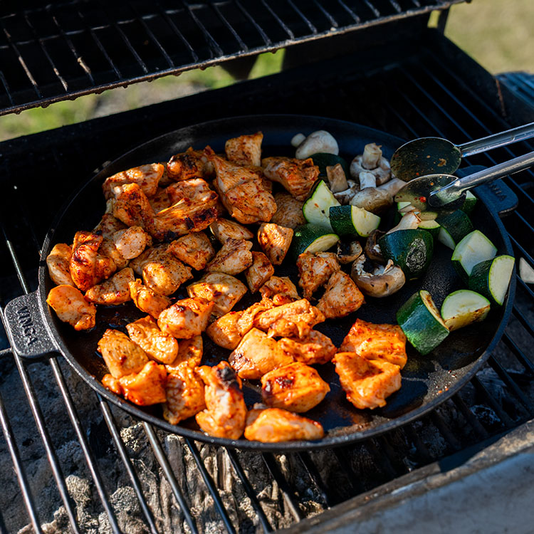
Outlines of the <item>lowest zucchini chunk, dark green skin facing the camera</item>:
[{"label": "lowest zucchini chunk, dark green skin facing the camera", "polygon": [[414,293],[397,311],[397,323],[422,355],[434,350],[448,335],[444,320],[428,291]]}]

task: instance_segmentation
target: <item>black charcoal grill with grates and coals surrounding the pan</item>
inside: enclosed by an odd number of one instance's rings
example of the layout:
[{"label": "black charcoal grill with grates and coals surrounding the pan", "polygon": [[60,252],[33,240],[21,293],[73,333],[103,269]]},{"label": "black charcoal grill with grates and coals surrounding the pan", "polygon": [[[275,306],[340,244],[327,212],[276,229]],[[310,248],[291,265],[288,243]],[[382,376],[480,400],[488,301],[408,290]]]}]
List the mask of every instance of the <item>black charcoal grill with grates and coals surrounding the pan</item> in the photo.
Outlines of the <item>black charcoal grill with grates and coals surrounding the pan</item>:
[{"label": "black charcoal grill with grates and coals surrounding the pan", "polygon": [[[239,56],[289,48],[288,70],[268,78],[1,143],[1,310],[36,289],[44,232],[70,192],[106,161],[177,127],[260,111],[300,113],[406,139],[462,142],[532,122],[526,78],[496,80],[426,27],[429,12],[441,9],[442,28],[454,3],[2,6],[2,113],[192,66],[233,59],[229,68],[236,68]],[[522,142],[464,165],[529,150]],[[518,198],[503,223],[515,256],[530,265],[533,177],[525,171],[495,189],[505,203]],[[533,290],[518,278],[513,317],[488,364],[431,414],[356,446],[287,455],[216,449],[136,422],[95,396],[61,357],[27,363],[3,334],[0,528],[29,525],[39,533],[52,522],[46,530],[324,531],[343,528],[344,517],[361,519],[370,506],[382,513],[399,494],[416,503],[419,486],[430,495],[439,486],[439,471],[461,479],[532,445],[533,304]],[[508,441],[498,447],[496,440]]]}]

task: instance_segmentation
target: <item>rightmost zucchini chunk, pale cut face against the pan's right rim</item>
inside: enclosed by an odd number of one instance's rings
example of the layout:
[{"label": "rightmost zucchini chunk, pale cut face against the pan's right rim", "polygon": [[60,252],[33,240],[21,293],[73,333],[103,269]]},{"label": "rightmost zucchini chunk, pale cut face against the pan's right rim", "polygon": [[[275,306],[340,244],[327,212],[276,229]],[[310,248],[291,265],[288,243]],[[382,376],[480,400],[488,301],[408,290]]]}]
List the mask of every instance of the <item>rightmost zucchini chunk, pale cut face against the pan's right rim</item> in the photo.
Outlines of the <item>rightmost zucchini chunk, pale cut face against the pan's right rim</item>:
[{"label": "rightmost zucchini chunk, pale cut face against the pan's right rim", "polygon": [[506,254],[477,263],[469,276],[468,288],[478,291],[491,303],[502,306],[512,278],[514,263],[515,258]]}]

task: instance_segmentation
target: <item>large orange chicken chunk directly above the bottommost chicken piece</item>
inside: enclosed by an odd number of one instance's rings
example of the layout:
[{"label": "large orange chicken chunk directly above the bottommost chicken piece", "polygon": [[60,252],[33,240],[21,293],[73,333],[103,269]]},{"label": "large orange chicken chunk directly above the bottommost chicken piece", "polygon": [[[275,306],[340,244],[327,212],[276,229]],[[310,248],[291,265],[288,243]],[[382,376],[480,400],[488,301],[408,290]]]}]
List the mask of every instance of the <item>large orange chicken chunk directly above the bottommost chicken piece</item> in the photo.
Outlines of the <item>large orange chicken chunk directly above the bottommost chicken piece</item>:
[{"label": "large orange chicken chunk directly above the bottommost chicken piece", "polygon": [[330,391],[319,373],[301,362],[294,362],[261,377],[261,397],[271,408],[308,412]]}]

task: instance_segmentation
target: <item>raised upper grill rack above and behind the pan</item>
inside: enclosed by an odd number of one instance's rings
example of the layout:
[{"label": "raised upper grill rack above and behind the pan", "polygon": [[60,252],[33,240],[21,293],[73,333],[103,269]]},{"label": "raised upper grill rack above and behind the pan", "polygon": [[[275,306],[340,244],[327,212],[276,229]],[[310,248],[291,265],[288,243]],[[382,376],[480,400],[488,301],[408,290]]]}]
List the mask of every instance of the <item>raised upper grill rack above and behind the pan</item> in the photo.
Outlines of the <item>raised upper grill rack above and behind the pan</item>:
[{"label": "raised upper grill rack above and behind the pan", "polygon": [[[276,51],[462,0],[72,0],[0,8],[0,114]],[[26,2],[26,4],[28,4]]]}]

